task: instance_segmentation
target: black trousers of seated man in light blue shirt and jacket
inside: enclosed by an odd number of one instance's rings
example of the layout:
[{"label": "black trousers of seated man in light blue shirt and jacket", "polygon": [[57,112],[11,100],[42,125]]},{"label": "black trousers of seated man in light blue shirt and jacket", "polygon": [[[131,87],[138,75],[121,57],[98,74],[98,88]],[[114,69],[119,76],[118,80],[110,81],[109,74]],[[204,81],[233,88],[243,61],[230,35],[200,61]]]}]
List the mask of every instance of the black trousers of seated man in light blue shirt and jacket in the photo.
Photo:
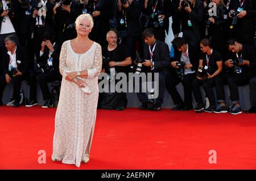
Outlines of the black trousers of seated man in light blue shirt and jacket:
[{"label": "black trousers of seated man in light blue shirt and jacket", "polygon": [[176,85],[180,82],[183,85],[184,90],[184,106],[192,107],[192,81],[195,79],[196,73],[184,75],[183,81],[176,75],[171,74],[167,78],[166,89],[172,97],[174,104],[182,103],[183,100],[180,97],[179,92],[177,92]]}]

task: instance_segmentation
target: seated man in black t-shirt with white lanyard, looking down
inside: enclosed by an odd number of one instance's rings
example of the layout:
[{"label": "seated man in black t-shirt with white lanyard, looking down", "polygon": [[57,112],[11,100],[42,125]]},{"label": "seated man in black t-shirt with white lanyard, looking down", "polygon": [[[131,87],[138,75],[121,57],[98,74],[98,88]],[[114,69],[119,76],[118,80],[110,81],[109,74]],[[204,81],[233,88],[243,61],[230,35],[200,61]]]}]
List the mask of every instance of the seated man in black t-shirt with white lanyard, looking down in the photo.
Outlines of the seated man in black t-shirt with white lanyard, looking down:
[{"label": "seated man in black t-shirt with white lanyard, looking down", "polygon": [[[200,56],[197,76],[192,82],[192,89],[197,102],[195,111],[213,112],[216,108],[213,87],[215,86],[215,79],[222,71],[222,58],[217,50],[212,49],[209,39],[201,40],[200,47],[203,53]],[[210,106],[206,109],[200,91],[202,85],[210,102]]]}]

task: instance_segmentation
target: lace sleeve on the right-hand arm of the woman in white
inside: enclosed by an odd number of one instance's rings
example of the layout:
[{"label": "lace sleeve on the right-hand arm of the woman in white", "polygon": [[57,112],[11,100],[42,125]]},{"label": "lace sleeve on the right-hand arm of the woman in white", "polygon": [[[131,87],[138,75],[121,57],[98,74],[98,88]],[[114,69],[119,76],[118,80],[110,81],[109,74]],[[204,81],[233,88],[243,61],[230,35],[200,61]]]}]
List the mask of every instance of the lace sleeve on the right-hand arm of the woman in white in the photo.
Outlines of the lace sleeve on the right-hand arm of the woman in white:
[{"label": "lace sleeve on the right-hand arm of the woman in white", "polygon": [[101,72],[101,64],[102,64],[102,54],[101,54],[101,46],[97,44],[97,48],[94,54],[94,64],[92,69],[87,69],[88,77],[87,78],[94,78],[98,76]]}]

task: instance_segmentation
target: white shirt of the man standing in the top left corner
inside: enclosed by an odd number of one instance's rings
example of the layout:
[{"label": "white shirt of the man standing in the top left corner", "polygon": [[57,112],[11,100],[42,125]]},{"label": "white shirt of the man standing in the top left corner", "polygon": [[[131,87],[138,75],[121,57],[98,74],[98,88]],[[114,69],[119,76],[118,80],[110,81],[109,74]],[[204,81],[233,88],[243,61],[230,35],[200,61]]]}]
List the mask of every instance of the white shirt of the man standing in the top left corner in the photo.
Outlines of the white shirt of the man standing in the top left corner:
[{"label": "white shirt of the man standing in the top left corner", "polygon": [[[7,10],[8,7],[7,7],[7,4],[6,4],[5,0],[2,0],[2,2],[3,2],[3,10]],[[3,20],[2,20],[1,23],[2,23],[1,31],[0,31],[1,35],[15,32],[14,27],[13,27],[13,23],[11,23],[11,19],[8,15],[3,17]]]}]

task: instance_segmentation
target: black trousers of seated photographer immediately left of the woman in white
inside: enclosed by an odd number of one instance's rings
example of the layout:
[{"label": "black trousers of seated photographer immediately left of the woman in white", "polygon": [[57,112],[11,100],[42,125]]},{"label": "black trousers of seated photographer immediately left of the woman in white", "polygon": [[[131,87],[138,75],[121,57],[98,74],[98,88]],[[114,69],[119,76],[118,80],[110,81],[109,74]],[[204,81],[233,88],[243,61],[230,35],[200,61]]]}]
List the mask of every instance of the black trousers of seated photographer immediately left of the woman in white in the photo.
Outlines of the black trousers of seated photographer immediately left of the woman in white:
[{"label": "black trousers of seated photographer immediately left of the woman in white", "polygon": [[[51,93],[49,91],[47,83],[53,82],[53,81],[59,81],[59,80],[61,80],[61,78],[62,77],[61,77],[61,74],[59,73],[59,71],[51,71],[51,72],[46,72],[46,73],[36,75],[36,80],[39,83],[44,100],[51,99]],[[35,87],[33,87],[32,90],[35,91],[35,89],[36,89]],[[35,92],[33,94],[35,94]]]}]

